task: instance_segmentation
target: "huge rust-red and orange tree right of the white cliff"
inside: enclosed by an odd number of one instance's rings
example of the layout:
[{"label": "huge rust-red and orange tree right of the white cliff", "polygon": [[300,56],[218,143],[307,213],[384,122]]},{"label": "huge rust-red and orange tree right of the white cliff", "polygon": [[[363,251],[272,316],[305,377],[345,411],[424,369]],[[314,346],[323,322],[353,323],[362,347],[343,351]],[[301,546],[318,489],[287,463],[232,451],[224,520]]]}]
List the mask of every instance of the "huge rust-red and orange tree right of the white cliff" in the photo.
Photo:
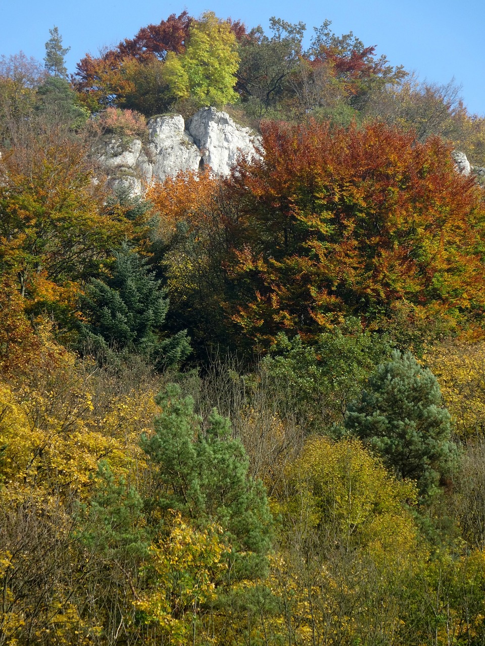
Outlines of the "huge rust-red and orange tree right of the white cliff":
[{"label": "huge rust-red and orange tree right of the white cliff", "polygon": [[383,325],[408,304],[431,333],[479,320],[482,198],[440,140],[384,125],[267,123],[263,147],[228,189],[241,236],[232,311],[244,335],[264,347],[278,331],[313,335],[345,314]]}]

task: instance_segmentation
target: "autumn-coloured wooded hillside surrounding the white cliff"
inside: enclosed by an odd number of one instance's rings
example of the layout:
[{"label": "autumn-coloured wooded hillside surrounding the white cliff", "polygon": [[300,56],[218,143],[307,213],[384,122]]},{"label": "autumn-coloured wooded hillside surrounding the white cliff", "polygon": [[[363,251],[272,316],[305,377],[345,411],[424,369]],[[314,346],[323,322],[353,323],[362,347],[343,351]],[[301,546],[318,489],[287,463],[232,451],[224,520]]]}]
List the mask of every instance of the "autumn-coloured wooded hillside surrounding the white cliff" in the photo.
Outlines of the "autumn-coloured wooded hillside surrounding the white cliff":
[{"label": "autumn-coloured wooded hillside surrounding the white cliff", "polygon": [[[0,646],[485,643],[485,123],[304,32],[0,61]],[[204,105],[261,154],[107,188]]]}]

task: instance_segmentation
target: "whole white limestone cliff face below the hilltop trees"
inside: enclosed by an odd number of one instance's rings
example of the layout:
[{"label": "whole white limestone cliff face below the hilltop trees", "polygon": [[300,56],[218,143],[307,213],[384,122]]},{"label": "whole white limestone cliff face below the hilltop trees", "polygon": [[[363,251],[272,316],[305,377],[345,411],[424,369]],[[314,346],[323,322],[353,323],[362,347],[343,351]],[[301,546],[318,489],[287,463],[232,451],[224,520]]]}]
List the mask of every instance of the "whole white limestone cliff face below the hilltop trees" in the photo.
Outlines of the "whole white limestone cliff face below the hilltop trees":
[{"label": "whole white limestone cliff face below the hilltop trees", "polygon": [[227,175],[241,153],[257,155],[258,145],[259,138],[226,112],[202,108],[187,123],[179,114],[155,117],[148,122],[146,143],[113,137],[96,157],[113,187],[125,185],[140,194],[179,171],[209,166],[215,175]]}]

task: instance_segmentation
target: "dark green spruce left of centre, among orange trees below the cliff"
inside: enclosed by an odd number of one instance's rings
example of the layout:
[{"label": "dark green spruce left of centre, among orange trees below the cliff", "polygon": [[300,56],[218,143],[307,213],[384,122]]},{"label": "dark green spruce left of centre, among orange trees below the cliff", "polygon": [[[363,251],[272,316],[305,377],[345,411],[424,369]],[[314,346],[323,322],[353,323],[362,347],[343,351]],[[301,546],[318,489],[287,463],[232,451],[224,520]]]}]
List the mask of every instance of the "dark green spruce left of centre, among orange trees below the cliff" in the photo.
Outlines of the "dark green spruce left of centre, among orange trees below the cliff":
[{"label": "dark green spruce left of centre, among orange trees below the cliff", "polygon": [[87,322],[81,338],[102,352],[131,351],[158,367],[172,366],[190,351],[185,331],[165,337],[168,299],[146,262],[124,245],[114,253],[111,276],[92,279],[81,300]]}]

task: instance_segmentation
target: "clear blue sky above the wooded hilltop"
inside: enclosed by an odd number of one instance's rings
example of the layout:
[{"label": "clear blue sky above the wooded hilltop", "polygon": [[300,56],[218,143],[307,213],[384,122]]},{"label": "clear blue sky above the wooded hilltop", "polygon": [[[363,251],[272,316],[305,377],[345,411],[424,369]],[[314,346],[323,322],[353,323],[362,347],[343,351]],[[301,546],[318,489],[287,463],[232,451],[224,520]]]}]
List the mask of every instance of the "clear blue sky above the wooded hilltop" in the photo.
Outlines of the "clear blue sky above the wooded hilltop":
[{"label": "clear blue sky above the wooded hilltop", "polygon": [[367,45],[376,45],[392,65],[415,70],[421,79],[438,84],[452,78],[462,86],[469,112],[485,116],[483,45],[485,6],[482,0],[1,0],[0,54],[23,50],[39,60],[45,54],[48,30],[57,25],[63,45],[70,46],[69,72],[86,52],[113,46],[133,37],[141,26],[158,23],[186,8],[191,16],[211,10],[221,18],[241,19],[248,28],[268,30],[271,16],[289,22],[303,21],[308,39],[313,26],[332,21],[338,35],[349,31]]}]

